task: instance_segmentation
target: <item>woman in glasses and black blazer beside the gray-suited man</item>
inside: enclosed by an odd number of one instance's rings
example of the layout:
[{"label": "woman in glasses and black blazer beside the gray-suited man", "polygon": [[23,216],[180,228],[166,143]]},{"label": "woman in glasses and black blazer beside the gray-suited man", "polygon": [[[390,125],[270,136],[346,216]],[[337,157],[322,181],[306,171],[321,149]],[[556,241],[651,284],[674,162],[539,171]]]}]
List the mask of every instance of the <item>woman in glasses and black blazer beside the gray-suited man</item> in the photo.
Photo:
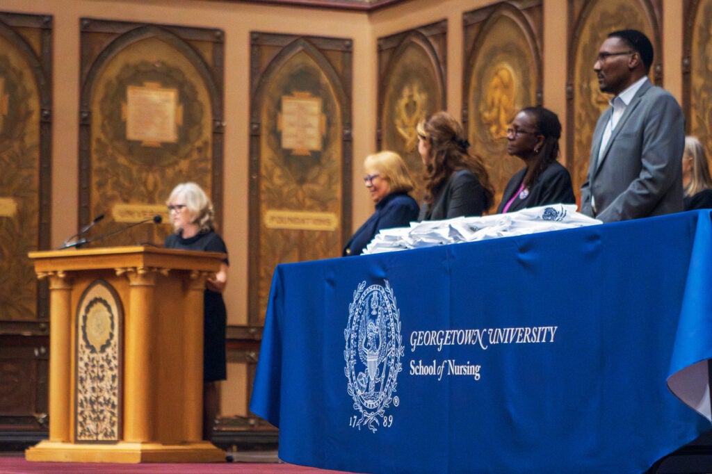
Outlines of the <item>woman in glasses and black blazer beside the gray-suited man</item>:
[{"label": "woman in glasses and black blazer beside the gray-suited man", "polygon": [[556,161],[561,123],[544,107],[526,107],[507,130],[507,152],[526,167],[507,183],[498,214],[546,204],[575,204],[568,170]]}]

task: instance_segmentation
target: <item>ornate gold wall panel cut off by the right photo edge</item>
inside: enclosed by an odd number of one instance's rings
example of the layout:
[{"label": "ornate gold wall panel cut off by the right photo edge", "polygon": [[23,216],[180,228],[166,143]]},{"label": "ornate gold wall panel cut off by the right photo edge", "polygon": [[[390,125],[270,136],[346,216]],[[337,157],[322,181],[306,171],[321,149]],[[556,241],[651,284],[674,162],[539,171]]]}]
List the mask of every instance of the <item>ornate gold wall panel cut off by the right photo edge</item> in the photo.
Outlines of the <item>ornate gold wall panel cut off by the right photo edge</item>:
[{"label": "ornate gold wall panel cut off by the right photo edge", "polygon": [[686,132],[712,160],[712,0],[685,2],[683,102]]}]

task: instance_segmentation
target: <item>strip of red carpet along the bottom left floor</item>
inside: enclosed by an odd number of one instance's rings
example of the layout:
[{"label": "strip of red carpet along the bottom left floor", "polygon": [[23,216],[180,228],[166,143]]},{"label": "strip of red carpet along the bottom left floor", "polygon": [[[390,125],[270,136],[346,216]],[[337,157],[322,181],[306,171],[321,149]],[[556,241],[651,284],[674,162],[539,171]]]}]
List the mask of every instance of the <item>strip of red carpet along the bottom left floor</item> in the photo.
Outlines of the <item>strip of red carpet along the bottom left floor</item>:
[{"label": "strip of red carpet along the bottom left floor", "polygon": [[213,474],[213,473],[238,473],[238,474],[328,474],[341,473],[341,471],[285,463],[210,463],[210,464],[116,464],[116,463],[38,463],[25,460],[21,453],[0,456],[0,474],[76,474],[76,473],[101,473],[101,474]]}]

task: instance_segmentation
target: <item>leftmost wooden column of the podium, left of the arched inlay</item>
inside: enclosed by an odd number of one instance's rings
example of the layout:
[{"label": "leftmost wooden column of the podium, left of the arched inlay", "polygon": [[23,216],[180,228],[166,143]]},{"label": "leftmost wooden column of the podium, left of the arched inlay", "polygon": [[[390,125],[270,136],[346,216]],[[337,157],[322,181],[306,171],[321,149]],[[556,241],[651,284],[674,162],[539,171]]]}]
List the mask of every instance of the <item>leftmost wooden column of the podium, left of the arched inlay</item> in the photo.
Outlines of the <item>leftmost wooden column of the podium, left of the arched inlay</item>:
[{"label": "leftmost wooden column of the podium, left of the arched inlay", "polygon": [[72,350],[72,285],[62,271],[38,275],[48,276],[50,290],[49,335],[49,441],[67,443],[71,440],[70,416],[73,412],[69,396]]}]

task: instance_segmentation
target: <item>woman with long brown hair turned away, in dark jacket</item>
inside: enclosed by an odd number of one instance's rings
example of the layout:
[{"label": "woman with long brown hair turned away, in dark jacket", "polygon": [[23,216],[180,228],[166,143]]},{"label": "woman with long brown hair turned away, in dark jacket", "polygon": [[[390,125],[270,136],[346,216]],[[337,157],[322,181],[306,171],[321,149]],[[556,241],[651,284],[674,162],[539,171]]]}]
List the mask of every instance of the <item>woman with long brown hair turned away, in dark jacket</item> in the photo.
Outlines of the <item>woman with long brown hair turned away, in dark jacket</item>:
[{"label": "woman with long brown hair turned away, in dark jacket", "polygon": [[436,112],[417,127],[425,196],[419,221],[481,216],[492,206],[494,189],[481,157],[468,152],[462,125]]}]

